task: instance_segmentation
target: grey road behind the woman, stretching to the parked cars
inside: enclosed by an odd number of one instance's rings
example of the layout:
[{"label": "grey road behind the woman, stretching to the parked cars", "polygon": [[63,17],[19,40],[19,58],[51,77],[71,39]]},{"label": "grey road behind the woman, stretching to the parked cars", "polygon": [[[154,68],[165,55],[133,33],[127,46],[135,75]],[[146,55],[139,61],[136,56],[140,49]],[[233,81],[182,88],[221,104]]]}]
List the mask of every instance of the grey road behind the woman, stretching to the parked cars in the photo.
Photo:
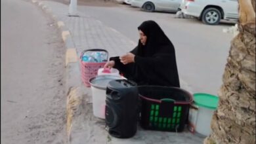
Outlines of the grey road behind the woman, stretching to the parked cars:
[{"label": "grey road behind the woman, stretching to the parked cars", "polygon": [[175,13],[144,12],[129,5],[104,7],[103,4],[79,6],[78,10],[116,29],[134,43],[139,39],[137,27],[144,20],[155,20],[175,46],[180,79],[194,93],[217,95],[232,40],[232,35],[223,33],[223,28],[234,23],[207,26],[196,19],[174,18]]}]

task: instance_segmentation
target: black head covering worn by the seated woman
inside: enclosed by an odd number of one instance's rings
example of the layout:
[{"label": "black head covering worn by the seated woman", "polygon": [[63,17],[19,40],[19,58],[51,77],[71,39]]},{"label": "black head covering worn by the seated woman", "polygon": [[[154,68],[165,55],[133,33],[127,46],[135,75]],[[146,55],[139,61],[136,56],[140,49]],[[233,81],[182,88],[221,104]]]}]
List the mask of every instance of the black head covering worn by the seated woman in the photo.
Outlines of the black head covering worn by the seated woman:
[{"label": "black head covering worn by the seated woman", "polygon": [[143,53],[144,56],[152,56],[158,52],[173,52],[173,44],[165,35],[161,27],[153,20],[142,22],[138,29],[141,30],[147,37],[145,46],[143,46],[139,41],[138,47],[142,48],[142,50],[139,50],[141,51],[139,53]]}]

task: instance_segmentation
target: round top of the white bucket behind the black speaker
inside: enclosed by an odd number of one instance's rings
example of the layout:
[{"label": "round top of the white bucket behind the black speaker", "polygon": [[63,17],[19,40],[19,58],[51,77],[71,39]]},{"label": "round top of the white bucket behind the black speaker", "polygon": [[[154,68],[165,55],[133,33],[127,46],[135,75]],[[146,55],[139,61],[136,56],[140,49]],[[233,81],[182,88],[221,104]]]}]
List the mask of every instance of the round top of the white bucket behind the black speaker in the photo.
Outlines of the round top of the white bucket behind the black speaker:
[{"label": "round top of the white bucket behind the black speaker", "polygon": [[116,79],[122,79],[122,78],[115,75],[98,75],[96,77],[91,78],[89,82],[91,86],[94,86],[95,88],[106,90],[106,86],[108,85],[108,82]]}]

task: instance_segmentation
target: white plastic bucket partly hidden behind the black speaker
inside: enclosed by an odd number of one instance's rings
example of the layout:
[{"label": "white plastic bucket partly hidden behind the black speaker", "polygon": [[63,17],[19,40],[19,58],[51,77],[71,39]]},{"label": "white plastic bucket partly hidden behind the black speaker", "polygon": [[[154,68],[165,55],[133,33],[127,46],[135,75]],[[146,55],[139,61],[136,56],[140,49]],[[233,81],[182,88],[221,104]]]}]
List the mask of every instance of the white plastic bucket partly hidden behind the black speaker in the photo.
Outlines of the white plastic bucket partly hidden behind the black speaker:
[{"label": "white plastic bucket partly hidden behind the black speaker", "polygon": [[93,97],[93,115],[98,118],[105,118],[106,107],[106,86],[108,82],[122,79],[114,75],[99,75],[90,79]]}]

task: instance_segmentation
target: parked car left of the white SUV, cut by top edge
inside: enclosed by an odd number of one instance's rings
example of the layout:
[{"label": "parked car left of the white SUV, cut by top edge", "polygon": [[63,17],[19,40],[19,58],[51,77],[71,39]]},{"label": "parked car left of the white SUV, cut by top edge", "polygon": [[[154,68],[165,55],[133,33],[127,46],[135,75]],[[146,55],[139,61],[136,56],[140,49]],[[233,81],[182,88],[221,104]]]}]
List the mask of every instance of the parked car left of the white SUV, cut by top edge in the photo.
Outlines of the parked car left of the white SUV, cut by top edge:
[{"label": "parked car left of the white SUV, cut by top edge", "polygon": [[177,12],[181,5],[181,0],[132,0],[131,6],[139,7],[147,12],[171,11]]}]

